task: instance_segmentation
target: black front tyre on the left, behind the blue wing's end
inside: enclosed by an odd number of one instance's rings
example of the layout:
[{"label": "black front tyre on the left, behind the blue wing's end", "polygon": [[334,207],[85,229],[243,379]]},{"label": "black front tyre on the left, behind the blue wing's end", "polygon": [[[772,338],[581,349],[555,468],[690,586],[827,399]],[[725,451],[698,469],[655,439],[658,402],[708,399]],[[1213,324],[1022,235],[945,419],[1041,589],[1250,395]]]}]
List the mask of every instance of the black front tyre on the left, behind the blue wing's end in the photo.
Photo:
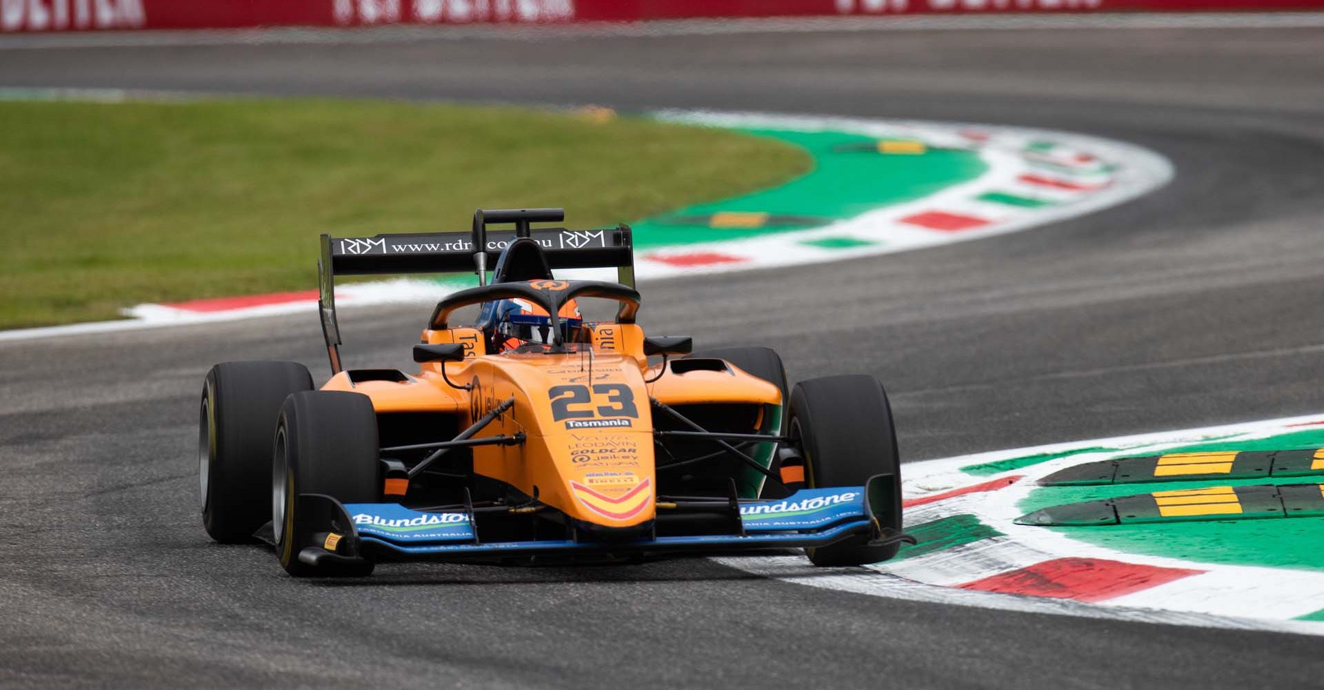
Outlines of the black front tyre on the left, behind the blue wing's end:
[{"label": "black front tyre on the left, behind the blue wing's end", "polygon": [[291,395],[281,405],[269,457],[271,530],[285,571],[297,577],[371,575],[371,562],[326,572],[301,562],[299,551],[315,544],[299,543],[306,530],[295,509],[299,494],[324,494],[340,503],[377,502],[377,417],[372,400],[339,391]]}]

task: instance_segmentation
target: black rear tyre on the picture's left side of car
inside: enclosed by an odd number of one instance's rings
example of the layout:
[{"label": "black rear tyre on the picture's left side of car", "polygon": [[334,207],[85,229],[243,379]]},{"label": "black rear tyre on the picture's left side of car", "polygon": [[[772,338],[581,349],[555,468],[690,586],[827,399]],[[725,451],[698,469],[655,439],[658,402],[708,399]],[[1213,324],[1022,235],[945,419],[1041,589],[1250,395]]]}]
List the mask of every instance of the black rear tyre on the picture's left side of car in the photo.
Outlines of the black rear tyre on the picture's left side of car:
[{"label": "black rear tyre on the picture's left side of car", "polygon": [[208,372],[197,466],[203,527],[212,539],[249,542],[271,518],[267,481],[281,403],[311,389],[312,376],[295,362],[228,362]]}]

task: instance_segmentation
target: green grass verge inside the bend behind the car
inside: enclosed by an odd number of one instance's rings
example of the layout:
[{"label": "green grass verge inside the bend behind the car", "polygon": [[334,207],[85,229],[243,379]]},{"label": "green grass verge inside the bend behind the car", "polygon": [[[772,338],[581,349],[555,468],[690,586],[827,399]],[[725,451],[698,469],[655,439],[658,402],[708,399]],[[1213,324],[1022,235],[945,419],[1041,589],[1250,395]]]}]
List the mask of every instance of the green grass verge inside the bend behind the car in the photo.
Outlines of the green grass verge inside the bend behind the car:
[{"label": "green grass verge inside the bend behind the car", "polygon": [[323,232],[465,229],[477,207],[614,224],[809,166],[772,139],[511,107],[0,103],[0,328],[315,287]]}]

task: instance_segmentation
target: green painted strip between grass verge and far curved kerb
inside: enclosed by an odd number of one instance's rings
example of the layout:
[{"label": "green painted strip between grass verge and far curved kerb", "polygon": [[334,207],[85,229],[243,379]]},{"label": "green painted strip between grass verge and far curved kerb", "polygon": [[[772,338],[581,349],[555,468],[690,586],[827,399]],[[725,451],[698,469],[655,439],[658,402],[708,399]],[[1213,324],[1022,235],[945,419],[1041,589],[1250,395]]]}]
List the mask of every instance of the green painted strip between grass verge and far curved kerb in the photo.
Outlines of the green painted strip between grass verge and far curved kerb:
[{"label": "green painted strip between grass verge and far curved kerb", "polygon": [[[814,167],[810,172],[772,189],[695,204],[632,224],[637,248],[736,240],[822,226],[879,207],[932,195],[978,177],[988,168],[974,151],[931,148],[924,155],[916,156],[862,156],[858,151],[841,148],[858,144],[875,146],[878,139],[831,131],[769,128],[737,131],[800,146],[813,156]],[[678,219],[706,219],[720,212],[800,216],[806,221],[780,224],[775,228],[710,228],[707,224],[677,222]]]}]

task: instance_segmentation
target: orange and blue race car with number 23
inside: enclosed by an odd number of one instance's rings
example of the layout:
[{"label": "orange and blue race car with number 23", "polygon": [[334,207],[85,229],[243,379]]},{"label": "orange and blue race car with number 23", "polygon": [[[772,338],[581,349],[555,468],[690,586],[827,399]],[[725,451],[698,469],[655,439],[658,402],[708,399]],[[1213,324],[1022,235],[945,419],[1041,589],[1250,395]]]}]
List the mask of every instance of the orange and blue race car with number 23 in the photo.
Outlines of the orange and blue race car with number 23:
[{"label": "orange and blue race car with number 23", "polygon": [[[207,375],[203,523],[265,535],[295,576],[379,560],[530,562],[804,547],[817,566],[902,542],[891,411],[871,376],[788,391],[769,348],[691,352],[636,323],[630,228],[568,230],[561,209],[482,211],[471,233],[322,236],[334,375],[232,362]],[[487,226],[514,230],[487,232]],[[483,248],[475,250],[474,248]],[[487,266],[495,261],[491,279]],[[553,269],[616,268],[618,282]],[[413,347],[417,373],[343,370],[336,274],[473,270]],[[616,305],[584,319],[579,299]],[[479,309],[455,326],[462,307]],[[266,524],[270,523],[270,528]]]}]

